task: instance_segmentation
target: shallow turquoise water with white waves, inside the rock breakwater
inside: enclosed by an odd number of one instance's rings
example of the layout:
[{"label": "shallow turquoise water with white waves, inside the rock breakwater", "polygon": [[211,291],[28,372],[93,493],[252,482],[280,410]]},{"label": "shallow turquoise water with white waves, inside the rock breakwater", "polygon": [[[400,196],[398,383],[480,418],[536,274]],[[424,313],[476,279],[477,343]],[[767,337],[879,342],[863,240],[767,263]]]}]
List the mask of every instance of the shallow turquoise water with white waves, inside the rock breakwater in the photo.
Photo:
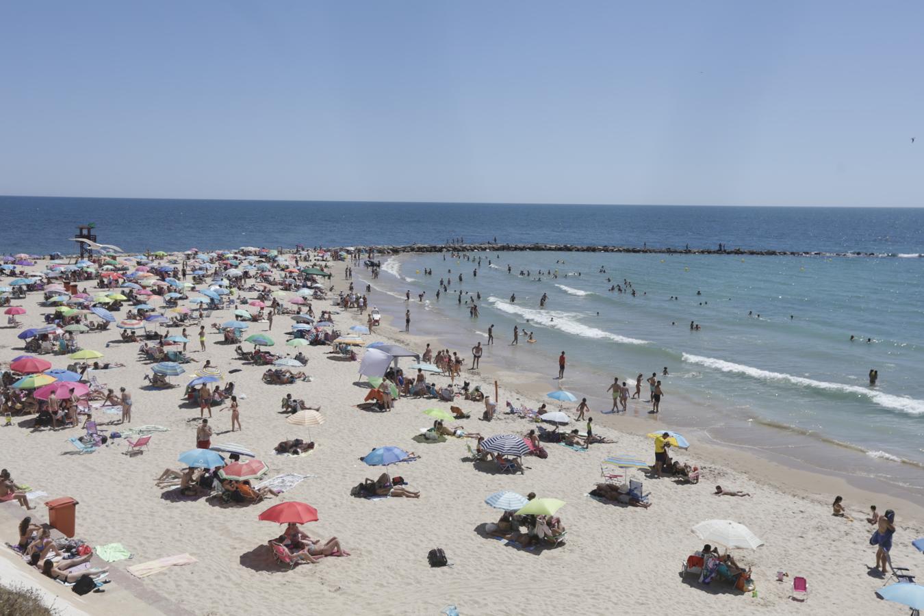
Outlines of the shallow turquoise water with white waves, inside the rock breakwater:
[{"label": "shallow turquoise water with white waves, inside the rock breakwater", "polygon": [[[423,275],[425,268],[433,275]],[[519,275],[521,270],[530,275]],[[451,277],[452,284],[436,301],[441,277]],[[608,290],[624,280],[636,296]],[[589,396],[598,408],[609,408],[605,389],[614,376],[634,391],[638,373],[647,378],[656,371],[663,380],[664,417],[708,429],[719,440],[747,440],[758,433],[748,436],[742,429],[755,422],[772,427],[760,431],[755,438],[763,442],[757,445],[789,447],[807,434],[818,447],[843,443],[854,448],[847,459],[856,472],[924,486],[919,259],[405,255],[386,262],[371,282],[395,295],[410,290],[412,308],[451,321],[472,344],[483,341],[493,324],[497,344],[506,346],[497,352],[515,363],[538,360],[550,388],[555,357],[565,350],[571,358],[566,388]],[[425,304],[416,301],[422,291]],[[473,320],[466,301],[476,293],[480,317]],[[548,301],[540,308],[543,293]],[[403,314],[399,303],[394,309]],[[691,320],[699,331],[690,331]],[[521,337],[520,346],[507,346],[515,325],[534,332],[538,342],[522,344]],[[661,376],[664,367],[670,376]],[[876,387],[869,386],[871,368],[879,371]],[[647,399],[647,384],[642,392]],[[681,407],[687,410],[672,414]]]}]

